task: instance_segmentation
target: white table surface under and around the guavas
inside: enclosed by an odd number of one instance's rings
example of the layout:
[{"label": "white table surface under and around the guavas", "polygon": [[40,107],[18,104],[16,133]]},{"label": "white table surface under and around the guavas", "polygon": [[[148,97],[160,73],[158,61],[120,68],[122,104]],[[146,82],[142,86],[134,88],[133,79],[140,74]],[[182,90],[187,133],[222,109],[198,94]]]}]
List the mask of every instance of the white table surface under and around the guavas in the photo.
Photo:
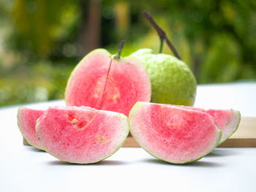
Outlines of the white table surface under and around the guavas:
[{"label": "white table surface under and around the guavas", "polygon": [[[256,82],[200,85],[195,106],[256,116]],[[63,100],[29,107],[45,109]],[[98,164],[63,163],[24,146],[18,106],[0,108],[0,191],[256,191],[256,148],[217,148],[193,164],[159,161],[141,148],[121,148]]]}]

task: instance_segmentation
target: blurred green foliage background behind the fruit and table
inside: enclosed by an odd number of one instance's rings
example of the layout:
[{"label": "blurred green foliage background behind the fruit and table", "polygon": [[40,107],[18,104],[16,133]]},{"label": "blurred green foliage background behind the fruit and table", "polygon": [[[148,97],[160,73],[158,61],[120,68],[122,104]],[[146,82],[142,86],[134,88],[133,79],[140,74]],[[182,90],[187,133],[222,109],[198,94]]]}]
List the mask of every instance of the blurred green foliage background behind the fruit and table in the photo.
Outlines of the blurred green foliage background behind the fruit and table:
[{"label": "blurred green foliage background behind the fruit and table", "polygon": [[[159,50],[165,29],[198,84],[256,80],[255,0],[0,0],[0,106],[63,99],[86,53]],[[165,45],[164,53],[170,53]]]}]

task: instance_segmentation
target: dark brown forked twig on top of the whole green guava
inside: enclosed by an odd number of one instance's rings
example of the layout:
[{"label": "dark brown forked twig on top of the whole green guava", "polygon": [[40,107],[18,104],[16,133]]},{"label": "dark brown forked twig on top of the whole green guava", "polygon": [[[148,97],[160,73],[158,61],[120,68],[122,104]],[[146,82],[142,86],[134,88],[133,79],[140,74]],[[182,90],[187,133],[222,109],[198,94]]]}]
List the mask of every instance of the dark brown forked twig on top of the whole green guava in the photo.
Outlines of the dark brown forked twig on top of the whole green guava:
[{"label": "dark brown forked twig on top of the whole green guava", "polygon": [[170,50],[172,50],[173,55],[176,56],[176,58],[181,59],[181,56],[178,54],[178,51],[176,50],[176,48],[174,47],[174,45],[170,42],[170,40],[167,38],[165,31],[162,30],[162,28],[159,27],[159,25],[157,24],[157,22],[154,20],[154,18],[152,18],[152,16],[147,12],[144,11],[143,12],[143,16],[144,18],[146,18],[146,20],[148,20],[148,22],[151,24],[151,26],[153,26],[153,28],[157,31],[157,34],[161,40],[161,44],[160,44],[160,50],[159,53],[162,52],[162,42],[165,40],[165,42],[167,43],[167,45],[170,47]]}]

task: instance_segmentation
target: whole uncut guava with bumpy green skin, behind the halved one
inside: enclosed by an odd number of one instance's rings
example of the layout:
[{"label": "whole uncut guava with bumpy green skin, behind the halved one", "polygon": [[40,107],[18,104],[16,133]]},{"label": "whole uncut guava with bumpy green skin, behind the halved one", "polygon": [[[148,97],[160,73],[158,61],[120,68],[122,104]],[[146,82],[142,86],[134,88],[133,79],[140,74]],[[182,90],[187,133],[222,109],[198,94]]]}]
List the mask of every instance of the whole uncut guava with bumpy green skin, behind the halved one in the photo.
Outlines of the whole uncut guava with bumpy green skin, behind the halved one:
[{"label": "whole uncut guava with bumpy green skin, behind the halved one", "polygon": [[189,67],[178,58],[151,49],[140,49],[130,55],[146,67],[151,79],[151,102],[192,106],[197,82]]}]

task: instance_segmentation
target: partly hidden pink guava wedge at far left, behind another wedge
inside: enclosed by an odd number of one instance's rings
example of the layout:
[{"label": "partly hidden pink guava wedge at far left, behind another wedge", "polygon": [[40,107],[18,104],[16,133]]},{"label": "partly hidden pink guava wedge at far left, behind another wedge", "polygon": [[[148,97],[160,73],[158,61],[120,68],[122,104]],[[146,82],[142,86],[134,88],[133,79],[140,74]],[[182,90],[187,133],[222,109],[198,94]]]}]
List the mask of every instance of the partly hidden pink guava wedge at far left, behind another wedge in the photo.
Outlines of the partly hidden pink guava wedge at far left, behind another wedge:
[{"label": "partly hidden pink guava wedge at far left, behind another wedge", "polygon": [[18,110],[18,127],[24,139],[29,142],[30,145],[43,150],[42,146],[37,139],[36,123],[37,119],[42,115],[44,110],[31,110],[26,107],[20,107]]}]

